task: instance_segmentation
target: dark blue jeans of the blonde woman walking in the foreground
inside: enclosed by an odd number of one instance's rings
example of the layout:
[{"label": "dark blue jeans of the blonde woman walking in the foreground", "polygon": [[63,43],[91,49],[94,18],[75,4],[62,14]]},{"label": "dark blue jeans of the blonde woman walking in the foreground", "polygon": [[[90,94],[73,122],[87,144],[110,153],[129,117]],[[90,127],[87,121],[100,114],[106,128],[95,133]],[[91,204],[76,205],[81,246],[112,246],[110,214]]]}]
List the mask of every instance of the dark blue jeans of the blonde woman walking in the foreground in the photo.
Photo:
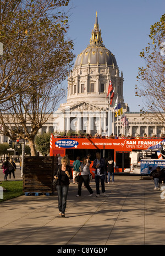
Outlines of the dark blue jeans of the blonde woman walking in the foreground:
[{"label": "dark blue jeans of the blonde woman walking in the foreground", "polygon": [[57,185],[57,193],[58,193],[58,209],[59,212],[65,213],[65,208],[67,206],[67,195],[69,185]]}]

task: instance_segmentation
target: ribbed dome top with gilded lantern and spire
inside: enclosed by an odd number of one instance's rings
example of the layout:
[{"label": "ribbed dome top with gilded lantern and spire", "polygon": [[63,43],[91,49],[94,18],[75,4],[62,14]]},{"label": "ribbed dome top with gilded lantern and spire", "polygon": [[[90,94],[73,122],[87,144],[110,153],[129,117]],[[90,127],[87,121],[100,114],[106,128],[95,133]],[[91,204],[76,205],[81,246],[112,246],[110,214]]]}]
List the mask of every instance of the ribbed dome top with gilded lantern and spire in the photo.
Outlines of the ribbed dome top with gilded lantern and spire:
[{"label": "ribbed dome top with gilded lantern and spire", "polygon": [[78,55],[75,61],[75,68],[81,65],[107,65],[117,67],[117,61],[114,55],[102,43],[101,30],[98,27],[97,12],[90,45]]}]

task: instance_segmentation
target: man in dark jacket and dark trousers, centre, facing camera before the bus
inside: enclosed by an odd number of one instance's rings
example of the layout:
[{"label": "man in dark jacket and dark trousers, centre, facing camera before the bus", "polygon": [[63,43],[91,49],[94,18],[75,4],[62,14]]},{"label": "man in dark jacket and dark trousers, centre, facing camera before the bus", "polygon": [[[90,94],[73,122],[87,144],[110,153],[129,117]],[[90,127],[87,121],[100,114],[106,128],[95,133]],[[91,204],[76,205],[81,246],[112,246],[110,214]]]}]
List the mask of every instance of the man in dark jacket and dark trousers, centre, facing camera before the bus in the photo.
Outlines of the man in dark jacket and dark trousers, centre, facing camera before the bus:
[{"label": "man in dark jacket and dark trousers, centre, facing camera before the bus", "polygon": [[103,196],[106,196],[105,191],[105,159],[101,158],[100,153],[96,153],[96,159],[92,168],[95,169],[95,182],[96,182],[96,197],[100,195],[100,182]]}]

